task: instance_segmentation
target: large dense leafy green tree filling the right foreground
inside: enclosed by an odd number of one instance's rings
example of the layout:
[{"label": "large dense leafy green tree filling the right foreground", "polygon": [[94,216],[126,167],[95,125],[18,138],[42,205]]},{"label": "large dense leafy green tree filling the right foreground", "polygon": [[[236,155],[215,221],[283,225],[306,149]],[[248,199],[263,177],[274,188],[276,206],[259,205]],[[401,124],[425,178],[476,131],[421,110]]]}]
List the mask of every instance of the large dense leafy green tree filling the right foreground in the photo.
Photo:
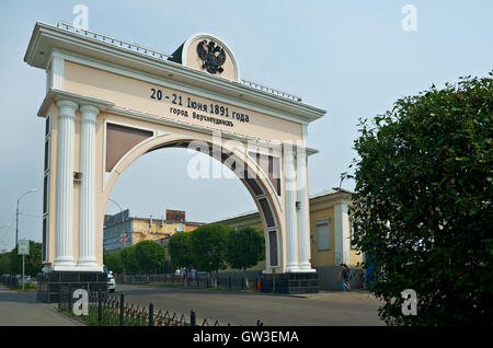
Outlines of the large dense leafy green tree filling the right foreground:
[{"label": "large dense leafy green tree filling the right foreground", "polygon": [[[351,213],[390,325],[493,323],[492,76],[432,86],[360,123]],[[417,315],[402,314],[405,289]]]}]

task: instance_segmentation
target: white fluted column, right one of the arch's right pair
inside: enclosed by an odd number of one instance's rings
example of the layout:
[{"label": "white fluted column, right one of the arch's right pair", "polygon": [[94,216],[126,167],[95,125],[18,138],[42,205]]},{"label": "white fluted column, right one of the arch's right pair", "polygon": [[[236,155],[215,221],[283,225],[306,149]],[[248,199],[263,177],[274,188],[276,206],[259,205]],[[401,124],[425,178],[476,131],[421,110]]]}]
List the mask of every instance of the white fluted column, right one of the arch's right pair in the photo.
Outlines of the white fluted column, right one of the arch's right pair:
[{"label": "white fluted column, right one of the arch's right pair", "polygon": [[310,265],[310,204],[308,200],[307,153],[298,148],[296,156],[298,183],[298,247],[300,271],[314,271]]}]

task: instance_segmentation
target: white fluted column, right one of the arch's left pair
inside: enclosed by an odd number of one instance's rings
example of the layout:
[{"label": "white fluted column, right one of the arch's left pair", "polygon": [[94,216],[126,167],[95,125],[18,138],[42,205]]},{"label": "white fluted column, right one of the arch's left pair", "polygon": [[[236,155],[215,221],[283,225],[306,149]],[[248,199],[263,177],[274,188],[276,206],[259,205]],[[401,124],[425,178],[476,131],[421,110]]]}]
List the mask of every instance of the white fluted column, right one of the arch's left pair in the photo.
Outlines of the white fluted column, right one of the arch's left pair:
[{"label": "white fluted column, right one of the arch's left pair", "polygon": [[82,105],[80,137],[80,242],[79,268],[98,268],[95,259],[95,128],[98,107]]}]

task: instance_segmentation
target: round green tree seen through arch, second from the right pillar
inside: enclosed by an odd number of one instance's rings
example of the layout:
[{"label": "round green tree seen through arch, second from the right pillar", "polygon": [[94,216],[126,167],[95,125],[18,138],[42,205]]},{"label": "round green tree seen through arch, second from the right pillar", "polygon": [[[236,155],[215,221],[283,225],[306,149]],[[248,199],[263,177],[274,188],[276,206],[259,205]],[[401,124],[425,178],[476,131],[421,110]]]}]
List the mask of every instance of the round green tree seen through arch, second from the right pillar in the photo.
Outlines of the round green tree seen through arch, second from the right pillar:
[{"label": "round green tree seen through arch, second from the right pillar", "polygon": [[204,224],[192,232],[192,257],[194,265],[205,271],[216,271],[216,282],[219,269],[225,269],[226,241],[231,228],[220,223]]}]

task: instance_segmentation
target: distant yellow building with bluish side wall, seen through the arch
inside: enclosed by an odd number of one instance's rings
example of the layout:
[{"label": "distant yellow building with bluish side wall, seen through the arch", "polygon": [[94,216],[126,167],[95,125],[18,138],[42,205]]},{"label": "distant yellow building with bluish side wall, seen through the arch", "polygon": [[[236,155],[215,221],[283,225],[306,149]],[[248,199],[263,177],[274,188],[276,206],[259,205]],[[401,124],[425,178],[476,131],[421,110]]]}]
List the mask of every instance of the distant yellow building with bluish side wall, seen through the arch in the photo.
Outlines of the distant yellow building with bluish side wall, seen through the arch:
[{"label": "distant yellow building with bluish side wall, seen through the arch", "polygon": [[156,219],[152,216],[149,218],[130,217],[128,209],[114,216],[106,216],[104,219],[104,253],[121,251],[125,246],[142,241],[162,241],[175,232],[191,232],[204,224],[185,221],[184,211],[179,214],[175,212],[175,210],[167,211],[167,219],[164,217]]}]

